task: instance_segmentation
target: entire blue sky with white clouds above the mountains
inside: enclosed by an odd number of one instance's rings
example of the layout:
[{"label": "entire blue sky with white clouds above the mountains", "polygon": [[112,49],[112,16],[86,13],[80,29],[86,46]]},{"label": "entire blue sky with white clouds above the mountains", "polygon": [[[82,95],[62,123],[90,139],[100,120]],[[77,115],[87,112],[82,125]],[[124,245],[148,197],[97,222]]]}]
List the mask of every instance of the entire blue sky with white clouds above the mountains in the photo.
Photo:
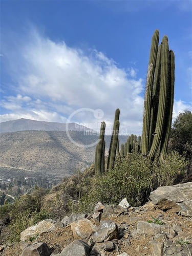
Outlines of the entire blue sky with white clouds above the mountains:
[{"label": "entire blue sky with white clouds above the mountains", "polygon": [[1,122],[27,118],[141,134],[151,38],[175,53],[174,118],[191,110],[191,1],[0,0]]}]

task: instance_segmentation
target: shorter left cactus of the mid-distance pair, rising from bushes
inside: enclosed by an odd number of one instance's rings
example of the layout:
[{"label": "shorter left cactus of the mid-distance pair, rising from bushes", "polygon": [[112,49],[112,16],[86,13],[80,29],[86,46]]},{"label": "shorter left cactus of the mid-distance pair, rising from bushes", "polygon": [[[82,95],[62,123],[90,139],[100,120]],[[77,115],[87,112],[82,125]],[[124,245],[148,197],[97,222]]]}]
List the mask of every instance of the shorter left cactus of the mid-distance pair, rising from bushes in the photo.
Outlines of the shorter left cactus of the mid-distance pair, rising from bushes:
[{"label": "shorter left cactus of the mid-distance pair, rising from bushes", "polygon": [[99,175],[104,173],[104,150],[105,150],[105,141],[104,141],[104,132],[105,132],[105,122],[101,123],[99,142],[96,146],[95,151],[95,174]]}]

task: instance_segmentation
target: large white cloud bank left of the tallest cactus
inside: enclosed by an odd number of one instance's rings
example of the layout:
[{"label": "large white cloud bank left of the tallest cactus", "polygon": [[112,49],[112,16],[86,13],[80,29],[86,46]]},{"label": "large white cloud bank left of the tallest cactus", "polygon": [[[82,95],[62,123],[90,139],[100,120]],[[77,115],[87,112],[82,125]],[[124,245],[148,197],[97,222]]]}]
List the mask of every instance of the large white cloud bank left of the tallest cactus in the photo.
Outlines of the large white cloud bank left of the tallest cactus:
[{"label": "large white cloud bank left of the tallest cactus", "polygon": [[[14,67],[14,74],[17,74],[14,79],[19,94],[3,101],[3,107],[12,109],[15,115],[29,113],[29,118],[53,121],[62,120],[62,116],[69,116],[79,108],[102,109],[103,120],[112,125],[115,110],[119,108],[121,129],[129,130],[132,126],[133,133],[134,127],[135,133],[141,133],[142,126],[139,127],[138,123],[142,120],[143,98],[140,93],[143,81],[136,78],[137,69],[130,68],[126,72],[102,52],[93,49],[85,54],[36,31],[19,49],[18,59],[16,63],[20,62],[20,69],[19,65]],[[59,116],[50,116],[51,112],[57,112]],[[13,115],[3,118],[12,118]],[[81,113],[74,116],[73,121],[94,122],[94,116]]]}]

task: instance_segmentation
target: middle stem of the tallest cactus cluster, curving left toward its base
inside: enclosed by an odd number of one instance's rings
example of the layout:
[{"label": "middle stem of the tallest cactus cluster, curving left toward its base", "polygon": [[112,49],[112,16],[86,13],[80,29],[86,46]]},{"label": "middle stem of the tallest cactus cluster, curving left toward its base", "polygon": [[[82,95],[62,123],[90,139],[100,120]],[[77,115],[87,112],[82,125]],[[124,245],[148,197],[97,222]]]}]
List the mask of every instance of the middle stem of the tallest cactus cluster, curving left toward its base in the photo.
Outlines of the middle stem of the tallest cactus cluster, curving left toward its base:
[{"label": "middle stem of the tallest cactus cluster, curving left toward its base", "polygon": [[[157,122],[155,127],[154,139],[148,153],[148,156],[152,159],[155,157],[158,146],[162,139],[163,125],[166,114],[166,101],[167,101],[167,84],[168,84],[168,38],[164,36],[162,39],[162,49],[161,49],[161,81],[160,81],[160,92],[159,92],[159,104],[158,104],[158,114]],[[142,141],[142,145],[143,145]]]}]

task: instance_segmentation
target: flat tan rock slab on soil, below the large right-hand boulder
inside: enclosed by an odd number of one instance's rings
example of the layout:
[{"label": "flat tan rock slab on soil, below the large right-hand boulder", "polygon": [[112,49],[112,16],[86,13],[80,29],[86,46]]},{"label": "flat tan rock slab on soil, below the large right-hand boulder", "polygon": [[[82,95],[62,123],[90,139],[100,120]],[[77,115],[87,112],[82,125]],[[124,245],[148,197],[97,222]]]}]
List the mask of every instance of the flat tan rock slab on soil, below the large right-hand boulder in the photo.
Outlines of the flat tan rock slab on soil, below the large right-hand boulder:
[{"label": "flat tan rock slab on soil, below the large right-hand boulder", "polygon": [[138,221],[137,223],[137,231],[142,234],[159,234],[168,232],[168,226],[166,225],[158,225],[154,223],[148,223],[145,221]]}]

